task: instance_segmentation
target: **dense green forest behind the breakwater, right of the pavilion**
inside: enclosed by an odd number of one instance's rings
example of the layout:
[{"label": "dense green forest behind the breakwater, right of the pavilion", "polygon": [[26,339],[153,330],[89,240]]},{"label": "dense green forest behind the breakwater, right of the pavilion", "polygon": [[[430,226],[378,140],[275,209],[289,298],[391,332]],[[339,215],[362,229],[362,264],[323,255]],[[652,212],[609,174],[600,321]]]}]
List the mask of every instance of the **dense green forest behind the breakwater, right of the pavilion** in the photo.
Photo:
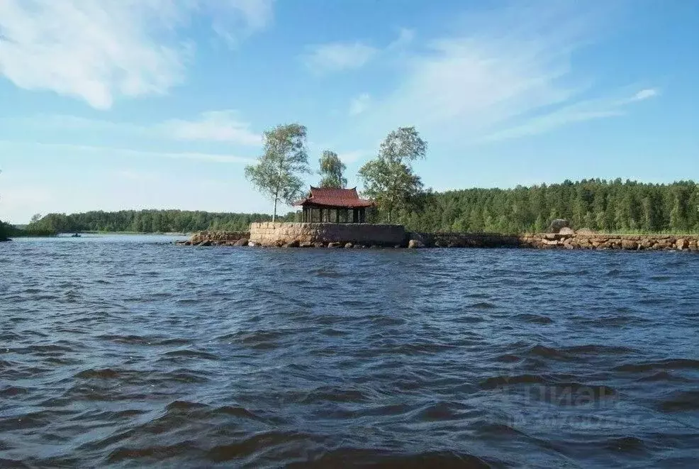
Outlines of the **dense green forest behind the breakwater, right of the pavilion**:
[{"label": "dense green forest behind the breakwater, right of the pavilion", "polygon": [[601,232],[699,233],[699,184],[691,181],[566,180],[420,197],[419,209],[398,211],[399,221],[415,231],[541,232],[564,218],[574,228]]}]

